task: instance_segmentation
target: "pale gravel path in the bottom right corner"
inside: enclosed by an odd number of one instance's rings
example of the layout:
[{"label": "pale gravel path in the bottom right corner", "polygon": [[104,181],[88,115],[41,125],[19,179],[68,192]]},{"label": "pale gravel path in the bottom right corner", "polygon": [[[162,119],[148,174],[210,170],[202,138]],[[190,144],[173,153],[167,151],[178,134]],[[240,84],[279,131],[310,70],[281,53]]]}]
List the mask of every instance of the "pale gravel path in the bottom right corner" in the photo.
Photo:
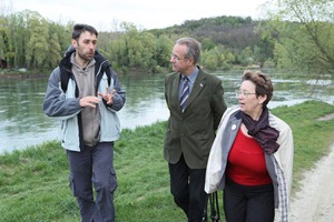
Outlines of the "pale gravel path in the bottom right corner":
[{"label": "pale gravel path in the bottom right corner", "polygon": [[292,222],[334,221],[334,144],[304,178],[292,200]]}]

